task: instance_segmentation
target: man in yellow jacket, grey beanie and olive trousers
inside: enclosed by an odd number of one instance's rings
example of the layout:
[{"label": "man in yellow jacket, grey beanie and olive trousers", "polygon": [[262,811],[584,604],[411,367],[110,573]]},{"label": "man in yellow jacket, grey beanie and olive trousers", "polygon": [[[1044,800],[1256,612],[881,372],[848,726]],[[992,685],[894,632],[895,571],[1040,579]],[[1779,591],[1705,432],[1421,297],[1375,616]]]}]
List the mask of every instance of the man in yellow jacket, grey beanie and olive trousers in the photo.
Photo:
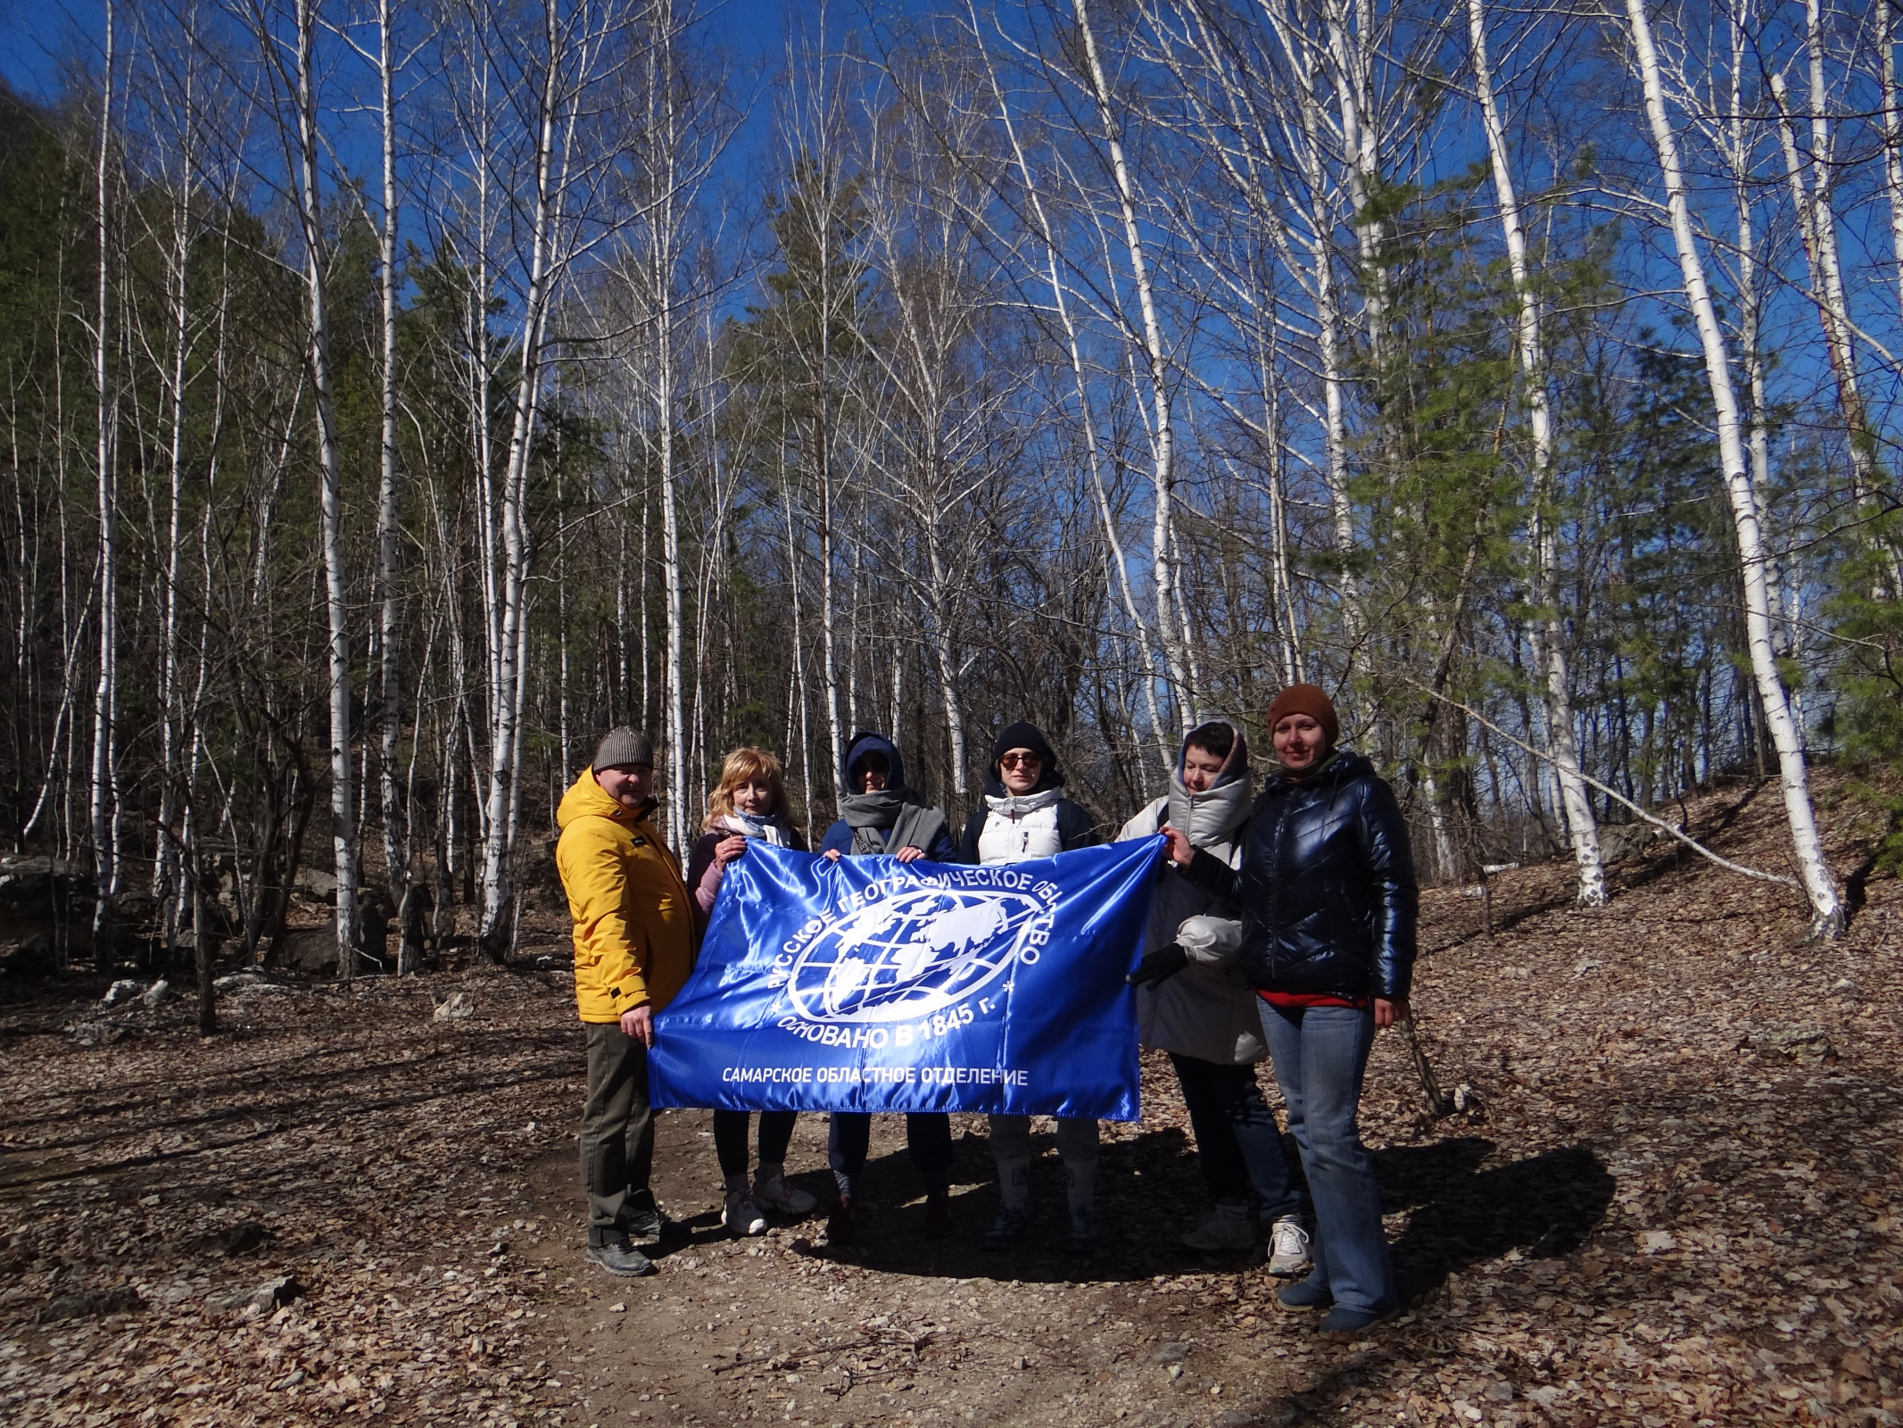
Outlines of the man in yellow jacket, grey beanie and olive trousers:
[{"label": "man in yellow jacket, grey beanie and olive trousers", "polygon": [[575,920],[575,1002],[588,1040],[580,1133],[588,1262],[609,1274],[655,1272],[632,1240],[658,1240],[664,1228],[647,1186],[655,1161],[647,1049],[655,1013],[681,990],[695,956],[679,863],[647,821],[653,788],[647,735],[609,729],[556,811],[556,870]]}]

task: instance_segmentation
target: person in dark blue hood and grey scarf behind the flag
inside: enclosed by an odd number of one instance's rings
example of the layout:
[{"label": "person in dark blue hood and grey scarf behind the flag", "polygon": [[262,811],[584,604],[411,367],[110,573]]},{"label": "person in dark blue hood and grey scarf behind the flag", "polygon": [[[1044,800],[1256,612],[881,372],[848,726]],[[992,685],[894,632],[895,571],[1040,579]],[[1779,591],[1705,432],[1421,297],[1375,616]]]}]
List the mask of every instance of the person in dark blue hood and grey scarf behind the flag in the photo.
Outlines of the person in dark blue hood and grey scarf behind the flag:
[{"label": "person in dark blue hood and grey scarf behind the flag", "polygon": [[[889,853],[900,863],[957,863],[957,845],[944,811],[906,786],[906,764],[891,739],[879,733],[853,735],[845,756],[845,786],[849,792],[839,798],[839,821],[820,840],[820,853],[830,859]],[[870,1144],[870,1114],[832,1114],[826,1158],[832,1161],[839,1198],[826,1220],[830,1245],[849,1245],[856,1236],[853,1205]],[[952,1118],[944,1112],[908,1114],[906,1148],[925,1180],[925,1234],[942,1240],[952,1234]]]}]

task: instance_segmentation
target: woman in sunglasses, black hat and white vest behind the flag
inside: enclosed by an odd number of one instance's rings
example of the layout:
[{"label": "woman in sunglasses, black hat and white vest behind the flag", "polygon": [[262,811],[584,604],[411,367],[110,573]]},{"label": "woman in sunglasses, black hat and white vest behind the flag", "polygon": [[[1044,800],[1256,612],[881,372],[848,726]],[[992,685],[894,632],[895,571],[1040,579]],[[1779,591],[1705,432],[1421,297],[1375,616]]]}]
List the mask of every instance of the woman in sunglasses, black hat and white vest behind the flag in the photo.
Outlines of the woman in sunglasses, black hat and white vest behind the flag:
[{"label": "woman in sunglasses, black hat and white vest behind the flag", "polygon": [[[1033,724],[1009,724],[991,744],[991,773],[984,807],[971,815],[959,842],[961,863],[1026,863],[1098,842],[1090,815],[1062,794],[1064,771]],[[997,1220],[986,1249],[1009,1249],[1030,1226],[1031,1118],[991,1116],[991,1158],[997,1161]],[[1073,1255],[1092,1247],[1090,1203],[1096,1196],[1096,1121],[1058,1116],[1058,1158],[1069,1201],[1064,1245]]]}]

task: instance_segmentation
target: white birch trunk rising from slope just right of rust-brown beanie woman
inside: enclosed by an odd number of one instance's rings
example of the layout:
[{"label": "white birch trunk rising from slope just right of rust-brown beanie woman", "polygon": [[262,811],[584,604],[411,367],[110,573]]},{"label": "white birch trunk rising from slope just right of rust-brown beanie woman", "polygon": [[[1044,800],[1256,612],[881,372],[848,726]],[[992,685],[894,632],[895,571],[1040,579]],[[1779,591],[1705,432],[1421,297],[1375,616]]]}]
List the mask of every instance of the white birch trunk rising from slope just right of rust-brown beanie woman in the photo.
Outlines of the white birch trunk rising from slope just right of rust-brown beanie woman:
[{"label": "white birch trunk rising from slope just right of rust-brown beanie woman", "polygon": [[1473,78],[1481,101],[1481,122],[1486,128],[1486,152],[1494,171],[1494,194],[1500,202],[1500,225],[1505,230],[1507,267],[1519,299],[1517,343],[1520,369],[1526,373],[1526,423],[1534,438],[1532,482],[1532,546],[1534,590],[1540,613],[1534,617],[1534,651],[1540,663],[1540,684],[1545,703],[1547,743],[1559,777],[1560,803],[1566,811],[1566,832],[1572,838],[1574,863],[1579,868],[1578,902],[1583,908],[1606,904],[1606,872],[1599,851],[1599,824],[1593,802],[1579,777],[1579,750],[1572,731],[1572,682],[1566,672],[1564,625],[1559,617],[1559,531],[1553,512],[1553,411],[1547,398],[1545,345],[1540,335],[1540,297],[1532,288],[1526,263],[1526,228],[1520,223],[1519,194],[1513,187],[1513,168],[1507,158],[1505,124],[1494,99],[1494,74],[1486,59],[1484,0],[1467,0],[1467,23],[1473,40]]}]

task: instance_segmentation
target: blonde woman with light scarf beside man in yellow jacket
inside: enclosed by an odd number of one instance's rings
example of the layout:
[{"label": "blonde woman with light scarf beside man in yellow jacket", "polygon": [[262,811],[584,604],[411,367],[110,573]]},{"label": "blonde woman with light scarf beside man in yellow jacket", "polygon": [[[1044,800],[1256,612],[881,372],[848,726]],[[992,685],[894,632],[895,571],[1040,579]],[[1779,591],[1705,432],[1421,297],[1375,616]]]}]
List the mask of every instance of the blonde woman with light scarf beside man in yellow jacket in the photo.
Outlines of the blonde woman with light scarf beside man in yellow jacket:
[{"label": "blonde woman with light scarf beside man in yellow jacket", "polygon": [[[736,748],[719,771],[719,788],[708,800],[704,832],[687,861],[687,887],[702,925],[714,912],[727,864],[746,855],[750,840],[805,853],[805,840],[780,817],[786,807],[786,775],[765,748]],[[765,1234],[767,1217],[811,1215],[818,1200],[784,1179],[786,1146],[794,1139],[794,1112],[759,1112],[759,1171],[746,1182],[744,1110],[714,1112],[714,1154],[725,1182],[721,1224],[736,1236]]]}]

